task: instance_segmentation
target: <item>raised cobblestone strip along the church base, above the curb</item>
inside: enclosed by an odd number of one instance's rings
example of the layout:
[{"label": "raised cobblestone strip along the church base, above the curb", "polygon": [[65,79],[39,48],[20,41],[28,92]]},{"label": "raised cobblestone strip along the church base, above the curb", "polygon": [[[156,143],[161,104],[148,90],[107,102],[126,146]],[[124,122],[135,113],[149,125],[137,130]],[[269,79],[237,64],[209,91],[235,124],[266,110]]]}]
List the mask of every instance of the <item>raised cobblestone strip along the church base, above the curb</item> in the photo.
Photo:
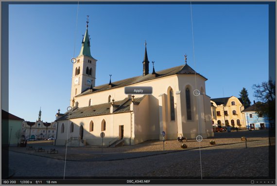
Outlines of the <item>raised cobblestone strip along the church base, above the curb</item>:
[{"label": "raised cobblestone strip along the church base, above the curb", "polygon": [[[159,140],[150,140],[137,145],[125,145],[117,148],[103,148],[101,146],[86,146],[86,147],[68,147],[67,148],[67,160],[71,161],[106,161],[106,160],[116,160],[116,159],[127,159],[134,157],[143,157],[149,155],[165,154],[175,151],[184,151],[194,148],[205,148],[210,147],[210,140],[215,140],[216,145],[225,145],[232,143],[243,143],[241,137],[244,136],[247,138],[248,142],[259,141],[268,139],[266,135],[268,131],[240,131],[240,132],[231,132],[231,133],[215,133],[213,139],[203,139],[200,143],[196,140],[183,141],[184,144],[187,144],[188,149],[181,149],[181,144],[177,140],[167,140],[165,141],[165,151],[163,151],[163,141]],[[53,146],[52,143],[39,143],[38,141],[31,142],[27,146],[33,146],[35,148],[42,147],[45,149],[45,152],[35,152],[27,151],[26,148],[11,147],[10,151],[16,151],[20,153],[28,153],[32,155],[39,155],[45,157],[51,157],[56,159],[65,159],[66,157],[66,148],[64,146]],[[55,148],[59,151],[58,154],[47,154],[47,151]]]}]

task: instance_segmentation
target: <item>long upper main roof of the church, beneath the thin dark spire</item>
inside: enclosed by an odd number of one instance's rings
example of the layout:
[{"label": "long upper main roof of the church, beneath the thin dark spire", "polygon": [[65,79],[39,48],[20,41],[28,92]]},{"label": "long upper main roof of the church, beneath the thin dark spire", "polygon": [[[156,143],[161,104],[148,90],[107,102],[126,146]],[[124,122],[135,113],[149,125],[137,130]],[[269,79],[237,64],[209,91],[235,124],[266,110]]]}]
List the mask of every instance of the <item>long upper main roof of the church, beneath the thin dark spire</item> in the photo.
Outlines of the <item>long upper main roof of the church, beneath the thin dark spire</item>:
[{"label": "long upper main roof of the church, beneath the thin dark spire", "polygon": [[[112,86],[112,88],[109,88],[109,84],[104,84],[104,85],[99,85],[99,86],[93,87],[92,91],[88,88],[83,93],[80,93],[77,96],[86,95],[89,93],[101,92],[101,91],[105,91],[105,90],[109,90],[109,89],[113,89],[113,88],[125,87],[125,86],[132,85],[135,83],[148,81],[148,80],[152,80],[152,79],[157,79],[157,78],[162,78],[162,77],[167,77],[167,76],[172,76],[172,75],[176,75],[176,74],[196,74],[196,75],[201,76],[202,78],[205,78],[201,74],[195,72],[188,64],[161,70],[161,71],[156,72],[156,74],[158,74],[158,77],[153,77],[152,74],[148,74],[146,76],[137,76],[137,77],[133,77],[133,78],[127,78],[127,79],[115,81],[115,82],[112,82],[112,84],[114,85],[114,86]],[[205,78],[205,79],[208,80],[207,78]]]}]

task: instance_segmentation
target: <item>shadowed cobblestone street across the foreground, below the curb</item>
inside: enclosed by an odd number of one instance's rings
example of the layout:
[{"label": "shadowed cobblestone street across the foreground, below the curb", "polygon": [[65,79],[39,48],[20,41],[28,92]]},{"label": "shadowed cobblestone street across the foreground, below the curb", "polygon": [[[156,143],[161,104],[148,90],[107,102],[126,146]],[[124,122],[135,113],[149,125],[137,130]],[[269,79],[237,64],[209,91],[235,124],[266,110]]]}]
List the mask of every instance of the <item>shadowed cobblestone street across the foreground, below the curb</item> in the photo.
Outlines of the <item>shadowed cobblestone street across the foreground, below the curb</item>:
[{"label": "shadowed cobblestone street across the foreground, below the curb", "polygon": [[[216,141],[218,140],[216,139]],[[160,141],[158,142],[160,143]],[[150,143],[155,149],[155,147],[159,145],[158,142]],[[173,143],[178,144],[178,142],[176,142],[175,140]],[[146,157],[138,157],[131,159],[89,162],[66,161],[65,175],[95,177],[199,177],[201,175],[203,177],[239,177],[267,176],[269,173],[268,139],[266,138],[261,138],[260,140],[256,139],[255,141],[247,142],[248,148],[245,148],[245,143],[243,142],[229,145],[210,146],[208,148],[201,148],[200,151],[199,142],[197,142],[196,144],[198,144],[198,148],[195,149],[174,152],[168,151],[167,154],[150,155]],[[179,145],[180,143],[178,144],[178,146]],[[124,146],[124,148],[126,147]],[[147,147],[143,145],[141,145],[141,148],[143,150],[147,149]],[[82,153],[79,154],[79,156],[82,156]],[[29,155],[17,152],[10,152],[9,160],[10,168],[15,170],[14,176],[64,175],[64,160],[52,159],[48,157],[41,157],[37,155]]]}]

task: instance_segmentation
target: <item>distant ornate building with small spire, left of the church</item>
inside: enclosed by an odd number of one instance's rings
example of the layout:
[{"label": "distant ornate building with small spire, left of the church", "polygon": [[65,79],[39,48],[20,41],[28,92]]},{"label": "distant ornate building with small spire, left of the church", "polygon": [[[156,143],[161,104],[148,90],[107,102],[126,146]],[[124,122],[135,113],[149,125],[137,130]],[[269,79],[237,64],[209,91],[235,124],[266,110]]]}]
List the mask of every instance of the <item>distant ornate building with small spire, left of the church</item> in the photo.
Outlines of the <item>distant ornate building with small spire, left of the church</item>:
[{"label": "distant ornate building with small spire, left of the church", "polygon": [[44,140],[50,137],[56,137],[56,122],[48,123],[41,120],[41,110],[39,110],[38,120],[36,122],[22,122],[22,137],[27,139]]}]

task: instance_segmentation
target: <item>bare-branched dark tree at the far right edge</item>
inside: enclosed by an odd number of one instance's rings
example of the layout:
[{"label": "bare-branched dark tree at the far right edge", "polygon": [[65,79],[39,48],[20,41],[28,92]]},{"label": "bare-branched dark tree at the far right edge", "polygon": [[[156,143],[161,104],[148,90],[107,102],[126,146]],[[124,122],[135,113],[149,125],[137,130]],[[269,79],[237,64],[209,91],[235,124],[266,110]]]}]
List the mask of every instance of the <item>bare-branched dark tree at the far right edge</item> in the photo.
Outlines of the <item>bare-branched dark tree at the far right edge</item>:
[{"label": "bare-branched dark tree at the far right edge", "polygon": [[257,113],[275,121],[275,82],[269,80],[253,85],[254,96],[261,102],[257,103]]}]

